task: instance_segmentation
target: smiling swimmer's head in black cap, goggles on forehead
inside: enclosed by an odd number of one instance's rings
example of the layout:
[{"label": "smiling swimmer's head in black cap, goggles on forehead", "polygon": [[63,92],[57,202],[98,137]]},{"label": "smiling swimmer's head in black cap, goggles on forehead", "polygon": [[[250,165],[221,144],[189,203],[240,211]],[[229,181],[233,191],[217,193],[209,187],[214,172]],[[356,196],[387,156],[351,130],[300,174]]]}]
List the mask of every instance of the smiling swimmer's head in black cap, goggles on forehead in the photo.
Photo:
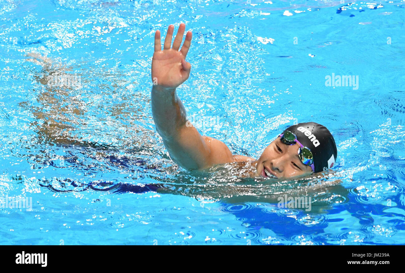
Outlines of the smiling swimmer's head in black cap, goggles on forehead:
[{"label": "smiling swimmer's head in black cap, goggles on forehead", "polygon": [[[285,131],[295,134],[298,141],[311,150],[315,173],[333,167],[337,148],[335,139],[325,126],[305,122],[292,125],[282,133]],[[279,136],[264,149],[256,165],[256,174],[261,175],[264,168],[279,179],[305,177],[313,173],[311,166],[305,165],[297,156],[301,146],[298,143],[286,145]]]}]

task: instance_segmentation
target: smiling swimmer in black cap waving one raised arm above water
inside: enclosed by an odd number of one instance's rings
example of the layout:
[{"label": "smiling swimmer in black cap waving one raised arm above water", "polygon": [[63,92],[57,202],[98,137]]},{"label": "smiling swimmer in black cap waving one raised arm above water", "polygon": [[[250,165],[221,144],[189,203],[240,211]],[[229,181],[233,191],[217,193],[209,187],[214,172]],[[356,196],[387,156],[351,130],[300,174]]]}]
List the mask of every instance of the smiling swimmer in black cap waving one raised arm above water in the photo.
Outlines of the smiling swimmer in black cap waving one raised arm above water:
[{"label": "smiling swimmer in black cap waving one raised arm above water", "polygon": [[192,32],[187,32],[179,51],[185,24],[180,24],[171,47],[173,30],[174,26],[170,25],[163,50],[160,31],[155,33],[151,100],[156,130],[175,163],[188,170],[204,171],[217,164],[247,162],[253,167],[249,176],[276,179],[305,177],[332,168],[337,158],[335,140],[326,127],[314,122],[288,127],[264,149],[258,160],[232,155],[222,141],[201,136],[188,122],[176,94],[176,88],[190,75],[191,65],[185,57]]}]

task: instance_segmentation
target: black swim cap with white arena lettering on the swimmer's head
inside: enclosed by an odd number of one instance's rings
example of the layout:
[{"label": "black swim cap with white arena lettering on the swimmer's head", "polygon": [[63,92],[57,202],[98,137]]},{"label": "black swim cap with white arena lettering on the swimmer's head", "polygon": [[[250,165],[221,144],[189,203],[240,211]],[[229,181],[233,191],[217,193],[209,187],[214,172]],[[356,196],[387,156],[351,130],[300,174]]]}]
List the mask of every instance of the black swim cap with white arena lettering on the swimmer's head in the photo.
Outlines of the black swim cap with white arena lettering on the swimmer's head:
[{"label": "black swim cap with white arena lettering on the swimmer's head", "polygon": [[311,150],[315,173],[335,165],[337,158],[335,139],[325,126],[315,122],[305,122],[292,125],[284,131],[294,133],[298,141]]}]

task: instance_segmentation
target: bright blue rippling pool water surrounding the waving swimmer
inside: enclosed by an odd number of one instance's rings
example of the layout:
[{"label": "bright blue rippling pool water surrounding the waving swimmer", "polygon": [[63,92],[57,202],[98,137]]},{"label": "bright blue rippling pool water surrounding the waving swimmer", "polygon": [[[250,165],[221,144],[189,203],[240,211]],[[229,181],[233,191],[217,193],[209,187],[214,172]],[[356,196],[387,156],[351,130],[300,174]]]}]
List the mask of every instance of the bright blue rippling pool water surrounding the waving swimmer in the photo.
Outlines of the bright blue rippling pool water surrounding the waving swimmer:
[{"label": "bright blue rippling pool water surrounding the waving swimmer", "polygon": [[[0,208],[0,243],[404,244],[404,4],[0,0],[0,197],[32,200]],[[192,71],[177,93],[201,134],[259,158],[288,126],[317,122],[335,172],[253,181],[174,164],[150,66],[154,32],[180,22]],[[56,73],[72,81],[50,86]],[[286,192],[312,209],[280,208]]]}]

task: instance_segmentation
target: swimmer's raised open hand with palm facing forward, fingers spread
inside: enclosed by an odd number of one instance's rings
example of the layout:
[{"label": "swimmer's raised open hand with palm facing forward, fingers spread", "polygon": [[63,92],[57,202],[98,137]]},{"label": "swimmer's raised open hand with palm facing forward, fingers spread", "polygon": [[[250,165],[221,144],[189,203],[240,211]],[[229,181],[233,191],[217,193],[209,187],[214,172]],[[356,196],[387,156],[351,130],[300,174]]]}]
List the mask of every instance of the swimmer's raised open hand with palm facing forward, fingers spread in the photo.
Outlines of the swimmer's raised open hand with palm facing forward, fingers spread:
[{"label": "swimmer's raised open hand with palm facing forward, fingers spread", "polygon": [[176,88],[190,76],[191,64],[185,61],[190,48],[192,33],[188,31],[181,50],[179,47],[183,40],[185,24],[181,23],[177,30],[173,47],[172,42],[174,26],[170,25],[164,39],[163,50],[160,43],[160,31],[155,33],[155,52],[152,58],[152,82],[160,87]]}]

